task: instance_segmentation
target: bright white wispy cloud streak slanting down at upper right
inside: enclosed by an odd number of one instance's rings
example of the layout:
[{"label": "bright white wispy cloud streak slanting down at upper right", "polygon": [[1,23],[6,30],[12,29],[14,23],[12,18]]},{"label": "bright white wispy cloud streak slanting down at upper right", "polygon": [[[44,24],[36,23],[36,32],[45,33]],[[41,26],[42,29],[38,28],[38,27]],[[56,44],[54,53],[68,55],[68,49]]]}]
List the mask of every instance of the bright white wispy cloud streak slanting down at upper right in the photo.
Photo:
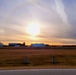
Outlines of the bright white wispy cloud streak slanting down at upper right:
[{"label": "bright white wispy cloud streak slanting down at upper right", "polygon": [[63,0],[55,0],[55,4],[56,4],[57,13],[59,14],[60,18],[66,25],[69,25],[67,14],[65,12],[65,7],[63,4]]}]

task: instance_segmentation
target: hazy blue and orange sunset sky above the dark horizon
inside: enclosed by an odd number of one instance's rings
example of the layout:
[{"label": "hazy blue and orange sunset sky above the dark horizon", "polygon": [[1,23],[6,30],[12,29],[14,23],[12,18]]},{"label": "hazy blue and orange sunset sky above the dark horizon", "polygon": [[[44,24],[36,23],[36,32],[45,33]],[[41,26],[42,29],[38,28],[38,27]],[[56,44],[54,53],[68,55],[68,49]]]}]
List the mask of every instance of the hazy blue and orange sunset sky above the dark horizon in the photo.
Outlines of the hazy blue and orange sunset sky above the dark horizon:
[{"label": "hazy blue and orange sunset sky above the dark horizon", "polygon": [[0,42],[76,45],[76,0],[0,0]]}]

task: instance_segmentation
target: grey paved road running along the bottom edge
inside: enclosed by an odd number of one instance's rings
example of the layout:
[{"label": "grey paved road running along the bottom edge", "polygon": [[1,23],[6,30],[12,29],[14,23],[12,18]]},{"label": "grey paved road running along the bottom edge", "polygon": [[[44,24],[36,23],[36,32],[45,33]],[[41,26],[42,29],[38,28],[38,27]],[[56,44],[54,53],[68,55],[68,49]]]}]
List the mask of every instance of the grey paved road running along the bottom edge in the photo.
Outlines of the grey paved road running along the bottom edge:
[{"label": "grey paved road running along the bottom edge", "polygon": [[76,75],[76,69],[0,70],[0,75]]}]

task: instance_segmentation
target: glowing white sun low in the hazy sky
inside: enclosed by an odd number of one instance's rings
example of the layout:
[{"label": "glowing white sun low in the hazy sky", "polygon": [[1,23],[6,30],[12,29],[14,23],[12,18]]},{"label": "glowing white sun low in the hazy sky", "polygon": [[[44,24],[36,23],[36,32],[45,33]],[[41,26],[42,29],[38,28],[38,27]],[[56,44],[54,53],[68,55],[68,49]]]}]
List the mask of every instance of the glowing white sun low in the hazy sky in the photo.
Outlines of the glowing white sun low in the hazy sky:
[{"label": "glowing white sun low in the hazy sky", "polygon": [[27,26],[27,33],[31,36],[37,36],[40,34],[40,25],[38,23],[30,23]]}]

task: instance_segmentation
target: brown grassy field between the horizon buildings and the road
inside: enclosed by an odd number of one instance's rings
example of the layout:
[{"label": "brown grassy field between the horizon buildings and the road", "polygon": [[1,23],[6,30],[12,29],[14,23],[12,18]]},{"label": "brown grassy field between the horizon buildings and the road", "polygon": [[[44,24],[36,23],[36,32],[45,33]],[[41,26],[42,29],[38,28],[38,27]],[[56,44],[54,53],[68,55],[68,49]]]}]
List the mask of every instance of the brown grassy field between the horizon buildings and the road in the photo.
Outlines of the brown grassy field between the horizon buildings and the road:
[{"label": "brown grassy field between the horizon buildings and the road", "polygon": [[0,67],[76,68],[76,49],[4,48]]}]

